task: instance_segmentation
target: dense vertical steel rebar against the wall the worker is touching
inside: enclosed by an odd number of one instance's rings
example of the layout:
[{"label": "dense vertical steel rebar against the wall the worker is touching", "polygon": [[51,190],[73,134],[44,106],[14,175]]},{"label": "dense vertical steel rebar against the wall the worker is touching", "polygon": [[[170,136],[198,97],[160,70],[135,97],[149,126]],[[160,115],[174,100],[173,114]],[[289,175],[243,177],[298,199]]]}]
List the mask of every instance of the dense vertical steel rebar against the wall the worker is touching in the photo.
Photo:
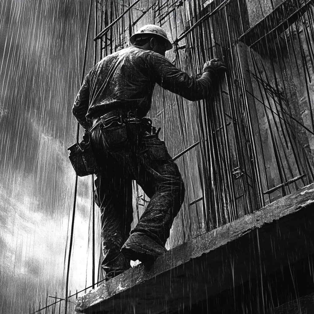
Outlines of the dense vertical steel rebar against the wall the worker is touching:
[{"label": "dense vertical steel rebar against the wall the worker is touching", "polygon": [[[172,134],[172,137],[163,135],[170,153],[176,154],[173,159],[180,166],[191,191],[190,197],[199,199],[195,204],[203,206],[202,219],[207,231],[237,219],[241,215],[239,210],[248,214],[264,206],[265,200],[271,202],[271,193],[265,193],[273,186],[271,177],[276,186],[280,186],[282,195],[297,190],[306,181],[313,181],[310,150],[302,146],[314,135],[309,83],[314,63],[311,1],[305,3],[306,10],[304,3],[296,11],[283,6],[281,18],[274,22],[277,24],[271,24],[259,38],[252,40],[250,49],[243,51],[237,47],[238,38],[249,25],[242,16],[239,0],[232,4],[231,0],[220,3],[214,0],[206,8],[196,0],[182,3],[147,0],[143,7],[134,7],[137,1],[130,4],[129,0],[122,4],[109,0],[103,4],[106,10],[101,28],[104,29],[95,39],[103,37],[104,49],[100,51],[104,55],[113,52],[115,45],[123,46],[133,27],[151,17],[155,24],[165,27],[173,41],[174,51],[170,52],[169,59],[177,67],[187,73],[201,73],[203,63],[214,57],[223,59],[228,67],[223,87],[208,99],[199,101],[196,114],[191,114],[193,105],[186,100],[160,90],[155,91],[152,108],[152,118],[161,126],[165,124]],[[132,6],[136,15],[132,14]],[[262,3],[260,8],[262,10]],[[302,18],[303,12],[306,15]],[[266,21],[270,15],[266,16],[262,10],[261,16]],[[304,35],[299,33],[298,27]],[[254,44],[266,36],[272,43],[265,46],[258,57]],[[301,60],[298,60],[299,55]],[[302,121],[301,112],[296,115],[299,95],[291,86],[299,79],[294,73],[300,74],[300,67],[301,79],[306,80],[304,90],[308,103],[304,106],[310,112],[312,126]],[[191,132],[190,118],[196,118],[198,123],[195,134],[193,128]],[[263,123],[266,130],[262,130],[259,123]],[[263,138],[264,134],[269,135],[269,139]],[[200,149],[192,150],[195,147],[192,143],[199,143]],[[197,174],[193,173],[195,155],[198,157]],[[271,158],[275,162],[270,164]],[[284,184],[303,174],[306,176],[296,180],[298,182]],[[136,192],[137,185],[133,187]],[[198,194],[200,188],[202,197]],[[178,224],[182,226],[183,241],[189,239],[194,228],[188,220],[195,219],[197,223],[201,218],[198,214],[198,210],[190,212],[188,206],[182,208]],[[184,215],[188,219],[184,219]]]}]

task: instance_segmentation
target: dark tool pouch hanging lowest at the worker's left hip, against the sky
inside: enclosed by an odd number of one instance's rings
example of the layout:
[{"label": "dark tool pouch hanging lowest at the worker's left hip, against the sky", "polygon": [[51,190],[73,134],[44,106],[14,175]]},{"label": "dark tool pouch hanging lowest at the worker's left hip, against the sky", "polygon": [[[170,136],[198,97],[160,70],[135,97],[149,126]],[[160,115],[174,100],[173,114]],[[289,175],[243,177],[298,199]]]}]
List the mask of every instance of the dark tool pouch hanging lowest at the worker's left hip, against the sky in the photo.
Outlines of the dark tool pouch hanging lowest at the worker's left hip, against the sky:
[{"label": "dark tool pouch hanging lowest at the worker's left hip, against the sky", "polygon": [[90,143],[90,137],[91,134],[85,132],[80,143],[75,143],[68,148],[70,151],[69,159],[78,176],[88,176],[99,171]]}]

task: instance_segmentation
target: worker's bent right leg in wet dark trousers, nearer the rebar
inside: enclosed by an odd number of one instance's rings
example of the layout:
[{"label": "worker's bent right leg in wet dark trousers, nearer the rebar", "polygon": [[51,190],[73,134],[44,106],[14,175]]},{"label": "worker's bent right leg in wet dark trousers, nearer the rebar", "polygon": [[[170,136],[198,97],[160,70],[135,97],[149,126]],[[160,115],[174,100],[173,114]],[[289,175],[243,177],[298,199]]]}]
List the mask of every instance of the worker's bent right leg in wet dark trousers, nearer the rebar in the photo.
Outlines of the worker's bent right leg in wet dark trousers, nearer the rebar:
[{"label": "worker's bent right leg in wet dark trousers, nearer the rebar", "polygon": [[[164,252],[171,225],[184,200],[184,184],[177,165],[168,154],[165,143],[154,137],[143,137],[139,152],[138,184],[150,198],[131,236],[122,248],[129,258],[145,259]],[[142,242],[142,243],[141,243]]]}]

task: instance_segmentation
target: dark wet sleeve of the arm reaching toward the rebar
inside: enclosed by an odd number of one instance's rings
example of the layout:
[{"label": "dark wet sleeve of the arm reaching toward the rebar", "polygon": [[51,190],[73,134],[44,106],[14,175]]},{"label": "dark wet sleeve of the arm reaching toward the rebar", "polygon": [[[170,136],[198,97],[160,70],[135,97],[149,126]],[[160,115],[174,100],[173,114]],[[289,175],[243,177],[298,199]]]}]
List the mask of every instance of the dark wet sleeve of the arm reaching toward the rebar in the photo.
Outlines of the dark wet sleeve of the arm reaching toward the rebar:
[{"label": "dark wet sleeve of the arm reaching toward the rebar", "polygon": [[191,101],[206,98],[216,77],[212,71],[204,72],[199,79],[191,77],[155,52],[150,54],[149,64],[157,84]]}]

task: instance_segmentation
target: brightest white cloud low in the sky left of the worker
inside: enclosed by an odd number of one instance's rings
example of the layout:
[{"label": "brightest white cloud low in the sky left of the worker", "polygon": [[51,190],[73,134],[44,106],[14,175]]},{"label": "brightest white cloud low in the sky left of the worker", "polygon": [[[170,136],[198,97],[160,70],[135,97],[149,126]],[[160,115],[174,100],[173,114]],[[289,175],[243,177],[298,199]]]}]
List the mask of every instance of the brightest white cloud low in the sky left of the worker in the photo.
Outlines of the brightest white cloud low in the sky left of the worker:
[{"label": "brightest white cloud low in the sky left of the worker", "polygon": [[[11,193],[0,184],[0,265],[1,282],[8,282],[0,299],[13,299],[14,283],[28,283],[28,291],[21,290],[19,300],[12,300],[15,306],[32,301],[44,301],[46,291],[63,295],[64,256],[68,233],[68,214],[72,204],[62,214],[51,216],[40,211],[41,201],[32,191],[31,177],[15,175],[15,187]],[[19,188],[16,188],[19,187]],[[87,263],[88,281],[91,281],[91,249],[88,249],[90,199],[79,195],[74,227],[70,290],[83,289]],[[96,208],[97,214],[97,208]],[[67,248],[68,252],[68,248]],[[99,252],[96,248],[96,254]],[[99,253],[98,253],[99,254]],[[97,260],[97,258],[96,258]],[[39,291],[38,291],[39,290]],[[39,295],[38,295],[38,292]],[[1,303],[1,302],[0,302]]]}]

